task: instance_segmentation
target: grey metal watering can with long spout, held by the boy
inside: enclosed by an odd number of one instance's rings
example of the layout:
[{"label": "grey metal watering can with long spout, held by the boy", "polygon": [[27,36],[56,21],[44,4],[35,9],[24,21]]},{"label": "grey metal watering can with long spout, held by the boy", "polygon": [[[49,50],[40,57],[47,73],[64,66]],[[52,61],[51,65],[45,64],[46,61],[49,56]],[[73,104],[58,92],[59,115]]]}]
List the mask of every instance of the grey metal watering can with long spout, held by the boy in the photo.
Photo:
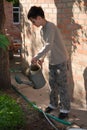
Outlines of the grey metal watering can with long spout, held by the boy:
[{"label": "grey metal watering can with long spout, held by the boy", "polygon": [[32,86],[34,89],[40,89],[45,86],[46,80],[42,73],[41,67],[39,65],[30,65],[28,71],[29,82],[22,81],[17,75],[15,76],[15,80],[19,84],[27,84]]}]

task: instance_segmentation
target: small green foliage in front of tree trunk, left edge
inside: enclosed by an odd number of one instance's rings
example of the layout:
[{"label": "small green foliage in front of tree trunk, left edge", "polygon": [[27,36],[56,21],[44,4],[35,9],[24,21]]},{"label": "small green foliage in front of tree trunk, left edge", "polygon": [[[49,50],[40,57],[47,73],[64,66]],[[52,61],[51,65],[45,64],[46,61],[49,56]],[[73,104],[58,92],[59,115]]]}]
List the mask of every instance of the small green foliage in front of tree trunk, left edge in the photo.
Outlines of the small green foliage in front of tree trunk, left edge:
[{"label": "small green foliage in front of tree trunk, left edge", "polygon": [[6,50],[7,47],[10,45],[9,39],[6,35],[0,34],[0,48]]}]

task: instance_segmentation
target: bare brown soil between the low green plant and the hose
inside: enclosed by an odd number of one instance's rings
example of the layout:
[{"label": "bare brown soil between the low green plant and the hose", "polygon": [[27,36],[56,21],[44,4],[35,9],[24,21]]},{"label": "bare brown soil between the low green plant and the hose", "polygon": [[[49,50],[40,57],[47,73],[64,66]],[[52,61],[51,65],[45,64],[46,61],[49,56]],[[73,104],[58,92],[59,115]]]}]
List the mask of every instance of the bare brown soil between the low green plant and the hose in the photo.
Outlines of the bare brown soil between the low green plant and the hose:
[{"label": "bare brown soil between the low green plant and the hose", "polygon": [[28,103],[20,95],[16,94],[13,89],[9,89],[5,93],[17,101],[25,114],[26,125],[24,128],[20,128],[20,130],[54,130],[45,117],[29,106]]}]

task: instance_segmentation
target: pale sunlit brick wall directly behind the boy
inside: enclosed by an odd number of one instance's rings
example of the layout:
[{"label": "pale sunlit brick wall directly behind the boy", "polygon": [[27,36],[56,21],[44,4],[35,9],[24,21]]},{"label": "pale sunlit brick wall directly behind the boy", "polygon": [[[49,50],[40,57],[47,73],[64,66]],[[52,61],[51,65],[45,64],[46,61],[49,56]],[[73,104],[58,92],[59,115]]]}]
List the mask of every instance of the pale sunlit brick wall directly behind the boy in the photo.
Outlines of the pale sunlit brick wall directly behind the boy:
[{"label": "pale sunlit brick wall directly behind the boy", "polygon": [[[30,58],[40,48],[39,29],[27,20],[32,5],[42,6],[46,18],[60,28],[70,57],[69,91],[71,99],[86,108],[87,100],[87,1],[20,0],[22,10],[23,56]],[[32,44],[33,43],[33,44]],[[26,55],[27,54],[27,55]],[[46,60],[47,62],[47,60]],[[46,63],[45,62],[45,63]],[[47,64],[44,65],[46,71]],[[80,98],[81,97],[81,98]]]}]

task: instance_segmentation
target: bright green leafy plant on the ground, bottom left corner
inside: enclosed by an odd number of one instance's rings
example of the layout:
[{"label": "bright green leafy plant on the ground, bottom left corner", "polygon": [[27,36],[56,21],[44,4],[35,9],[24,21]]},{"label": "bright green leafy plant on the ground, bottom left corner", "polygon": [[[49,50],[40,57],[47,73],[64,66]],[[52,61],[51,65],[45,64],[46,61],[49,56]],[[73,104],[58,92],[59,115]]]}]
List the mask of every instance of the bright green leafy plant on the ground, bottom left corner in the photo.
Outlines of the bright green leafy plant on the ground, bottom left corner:
[{"label": "bright green leafy plant on the ground, bottom left corner", "polygon": [[16,101],[0,94],[0,130],[17,130],[25,125],[25,116]]}]

